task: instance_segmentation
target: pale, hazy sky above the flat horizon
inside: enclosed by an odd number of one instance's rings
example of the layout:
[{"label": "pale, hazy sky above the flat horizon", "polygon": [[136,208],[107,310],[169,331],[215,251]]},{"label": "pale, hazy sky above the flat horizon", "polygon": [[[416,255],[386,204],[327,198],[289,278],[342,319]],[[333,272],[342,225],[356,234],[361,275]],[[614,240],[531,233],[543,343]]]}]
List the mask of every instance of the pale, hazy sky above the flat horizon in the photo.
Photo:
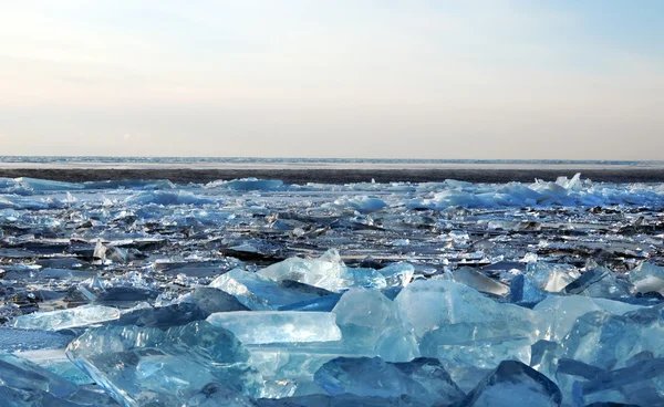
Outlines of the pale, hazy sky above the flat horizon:
[{"label": "pale, hazy sky above the flat horizon", "polygon": [[664,1],[7,1],[0,155],[661,160]]}]

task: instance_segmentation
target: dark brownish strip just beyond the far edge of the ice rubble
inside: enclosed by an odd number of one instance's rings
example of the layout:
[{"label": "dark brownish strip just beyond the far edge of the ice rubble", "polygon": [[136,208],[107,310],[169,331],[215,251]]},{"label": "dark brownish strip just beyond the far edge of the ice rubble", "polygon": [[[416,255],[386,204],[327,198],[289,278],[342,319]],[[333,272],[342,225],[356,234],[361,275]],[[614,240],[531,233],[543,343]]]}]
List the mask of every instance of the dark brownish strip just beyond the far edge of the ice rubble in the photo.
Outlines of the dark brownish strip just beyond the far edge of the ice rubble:
[{"label": "dark brownish strip just beyond the far edge of the ice rubble", "polygon": [[3,168],[0,177],[32,177],[71,182],[117,180],[117,179],[169,179],[174,182],[209,182],[218,179],[236,179],[256,177],[263,179],[281,179],[286,184],[346,184],[366,182],[432,182],[445,179],[457,179],[469,182],[531,182],[536,178],[554,180],[559,176],[571,177],[581,173],[582,178],[602,182],[664,182],[664,169],[627,168],[627,169],[479,169],[479,168],[417,168],[417,169],[187,169],[187,168]]}]

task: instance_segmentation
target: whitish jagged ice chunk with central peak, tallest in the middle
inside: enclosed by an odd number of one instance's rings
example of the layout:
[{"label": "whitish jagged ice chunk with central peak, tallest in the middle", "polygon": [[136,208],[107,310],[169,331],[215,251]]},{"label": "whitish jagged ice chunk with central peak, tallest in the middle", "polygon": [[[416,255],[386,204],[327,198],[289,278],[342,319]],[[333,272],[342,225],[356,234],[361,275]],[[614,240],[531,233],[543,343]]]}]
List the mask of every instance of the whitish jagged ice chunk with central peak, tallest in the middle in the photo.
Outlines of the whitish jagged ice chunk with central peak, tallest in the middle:
[{"label": "whitish jagged ice chunk with central peak, tallest in the middle", "polygon": [[318,259],[290,258],[258,272],[274,281],[293,280],[304,284],[339,292],[352,286],[385,288],[385,276],[373,269],[346,267],[339,251],[328,250]]}]

